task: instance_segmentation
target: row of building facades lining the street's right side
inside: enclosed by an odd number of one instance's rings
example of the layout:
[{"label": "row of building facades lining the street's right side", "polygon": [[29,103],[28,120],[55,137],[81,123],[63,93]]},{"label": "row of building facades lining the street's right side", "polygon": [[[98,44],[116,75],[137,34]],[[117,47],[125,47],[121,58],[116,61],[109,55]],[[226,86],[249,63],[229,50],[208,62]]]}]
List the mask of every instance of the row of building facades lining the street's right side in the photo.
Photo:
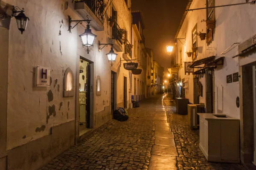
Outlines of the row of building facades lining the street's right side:
[{"label": "row of building facades lining the street's right side", "polygon": [[[241,2],[189,0],[186,9]],[[240,119],[240,160],[244,164],[256,160],[255,9],[254,3],[248,3],[185,11],[175,37],[181,40],[175,50],[177,81],[182,82],[178,86],[190,103],[204,103],[206,113]],[[215,23],[210,26],[206,20]]]}]

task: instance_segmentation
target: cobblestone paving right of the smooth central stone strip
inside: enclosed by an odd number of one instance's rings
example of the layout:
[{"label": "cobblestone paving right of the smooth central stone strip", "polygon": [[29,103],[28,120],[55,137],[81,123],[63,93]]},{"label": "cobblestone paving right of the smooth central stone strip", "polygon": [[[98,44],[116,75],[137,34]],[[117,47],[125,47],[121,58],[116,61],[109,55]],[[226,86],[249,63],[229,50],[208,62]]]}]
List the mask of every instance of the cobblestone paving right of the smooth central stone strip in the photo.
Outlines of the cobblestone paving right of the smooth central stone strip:
[{"label": "cobblestone paving right of the smooth central stone strip", "polygon": [[210,163],[199,148],[199,131],[190,130],[187,115],[176,114],[175,102],[168,95],[163,99],[167,121],[174,133],[178,150],[177,167],[179,170],[245,170],[241,164]]}]

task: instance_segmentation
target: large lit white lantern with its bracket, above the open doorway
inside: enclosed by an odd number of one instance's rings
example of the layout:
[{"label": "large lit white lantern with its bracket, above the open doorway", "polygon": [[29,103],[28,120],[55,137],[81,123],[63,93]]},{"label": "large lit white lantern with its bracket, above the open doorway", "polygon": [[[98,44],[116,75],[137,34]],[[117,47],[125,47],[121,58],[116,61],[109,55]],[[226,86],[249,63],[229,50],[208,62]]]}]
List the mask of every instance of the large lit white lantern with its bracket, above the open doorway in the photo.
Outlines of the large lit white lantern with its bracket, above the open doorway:
[{"label": "large lit white lantern with its bracket, above the open doorway", "polygon": [[[88,18],[88,16],[87,16]],[[81,41],[82,41],[82,45],[87,47],[86,51],[87,51],[87,54],[89,54],[89,47],[93,46],[93,42],[94,42],[94,39],[95,37],[97,37],[95,34],[92,33],[92,30],[90,29],[90,21],[89,18],[87,20],[72,20],[70,15],[68,15],[68,30],[70,33],[71,33],[71,29],[75,28],[79,23],[82,24],[83,21],[87,21],[87,26],[86,26],[86,29],[84,30],[84,33],[79,35],[79,37],[81,38]],[[71,23],[72,22],[78,22],[76,23],[75,26],[71,26]]]}]

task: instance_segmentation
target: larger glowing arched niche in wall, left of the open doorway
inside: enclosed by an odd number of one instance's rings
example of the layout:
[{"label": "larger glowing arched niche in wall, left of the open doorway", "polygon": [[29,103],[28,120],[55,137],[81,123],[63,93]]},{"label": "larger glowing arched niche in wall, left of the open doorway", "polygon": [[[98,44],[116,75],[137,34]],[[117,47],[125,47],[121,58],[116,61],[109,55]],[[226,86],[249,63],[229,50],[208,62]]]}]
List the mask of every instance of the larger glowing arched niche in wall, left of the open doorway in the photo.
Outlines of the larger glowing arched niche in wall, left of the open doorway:
[{"label": "larger glowing arched niche in wall, left of the open doorway", "polygon": [[74,74],[70,68],[67,68],[64,77],[64,97],[74,96],[74,82]]}]

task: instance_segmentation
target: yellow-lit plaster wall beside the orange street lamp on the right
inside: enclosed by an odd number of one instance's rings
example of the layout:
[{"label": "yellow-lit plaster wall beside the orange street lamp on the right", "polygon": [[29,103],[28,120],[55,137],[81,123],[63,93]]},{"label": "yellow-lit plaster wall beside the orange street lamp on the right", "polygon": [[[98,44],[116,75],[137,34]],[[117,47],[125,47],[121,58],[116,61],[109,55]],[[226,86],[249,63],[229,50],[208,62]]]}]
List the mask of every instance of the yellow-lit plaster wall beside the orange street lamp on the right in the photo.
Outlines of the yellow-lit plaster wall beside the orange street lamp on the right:
[{"label": "yellow-lit plaster wall beside the orange street lamp on the right", "polygon": [[[203,8],[205,7],[205,2],[202,0],[194,0],[191,4],[192,8]],[[189,79],[189,89],[185,89],[185,97],[189,99],[190,103],[194,103],[194,85],[193,85],[193,75],[188,73],[185,75],[185,69],[184,69],[184,62],[192,62],[192,57],[188,57],[186,54],[186,51],[192,50],[192,30],[197,25],[197,31],[206,32],[206,23],[201,22],[201,20],[206,19],[206,11],[205,10],[195,10],[195,11],[189,11],[186,15],[186,18],[184,20],[184,23],[180,29],[180,32],[177,36],[177,38],[184,38],[186,34],[186,44],[181,44],[180,41],[183,42],[183,40],[178,40],[178,53],[177,53],[177,63],[180,63],[180,57],[182,57],[182,68],[180,68],[179,71],[179,77],[181,79]],[[203,30],[203,31],[202,31]],[[205,57],[209,57],[214,55],[214,48],[207,47],[206,40],[200,40],[200,37],[198,37],[198,56],[197,59],[202,59]],[[213,44],[213,43],[212,43]],[[211,45],[212,45],[211,44]],[[182,48],[182,56],[180,56],[180,48]],[[196,69],[195,69],[196,71]],[[205,78],[200,78],[199,81],[201,81],[203,85],[203,97],[199,97],[199,102],[205,103]]]}]

